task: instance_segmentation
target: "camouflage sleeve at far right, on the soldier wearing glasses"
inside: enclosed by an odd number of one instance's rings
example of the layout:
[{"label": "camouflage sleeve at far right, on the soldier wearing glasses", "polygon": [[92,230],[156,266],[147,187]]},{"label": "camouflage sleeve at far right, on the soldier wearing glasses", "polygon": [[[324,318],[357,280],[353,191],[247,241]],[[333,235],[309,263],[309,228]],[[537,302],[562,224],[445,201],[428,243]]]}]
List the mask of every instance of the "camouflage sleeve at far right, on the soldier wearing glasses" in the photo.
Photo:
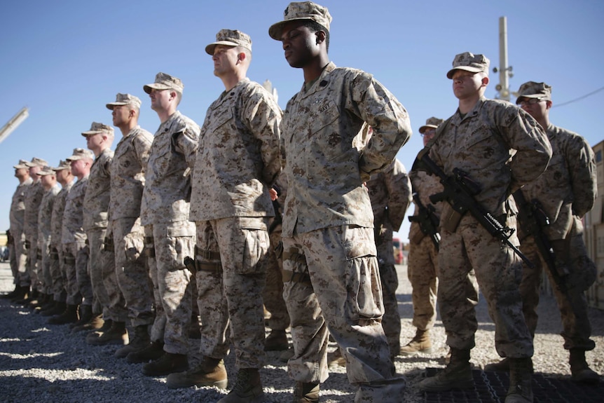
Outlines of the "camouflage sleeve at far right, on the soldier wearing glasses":
[{"label": "camouflage sleeve at far right, on the soldier wearing glasses", "polygon": [[596,159],[583,137],[577,135],[568,144],[566,161],[572,186],[572,213],[583,217],[593,207],[598,190]]}]

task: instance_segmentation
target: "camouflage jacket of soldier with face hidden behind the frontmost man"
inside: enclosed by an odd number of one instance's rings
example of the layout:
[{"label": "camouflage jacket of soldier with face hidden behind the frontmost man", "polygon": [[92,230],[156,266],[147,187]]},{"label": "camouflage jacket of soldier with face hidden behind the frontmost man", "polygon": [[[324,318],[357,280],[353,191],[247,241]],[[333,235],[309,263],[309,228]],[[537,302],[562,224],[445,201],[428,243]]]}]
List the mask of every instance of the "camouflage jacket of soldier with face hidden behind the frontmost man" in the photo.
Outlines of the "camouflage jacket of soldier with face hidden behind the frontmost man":
[{"label": "camouflage jacket of soldier with face hidden behind the frontmost man", "polygon": [[392,233],[398,231],[411,203],[411,182],[404,165],[394,159],[383,171],[371,175],[367,191],[373,208],[373,228],[378,259],[394,264]]}]

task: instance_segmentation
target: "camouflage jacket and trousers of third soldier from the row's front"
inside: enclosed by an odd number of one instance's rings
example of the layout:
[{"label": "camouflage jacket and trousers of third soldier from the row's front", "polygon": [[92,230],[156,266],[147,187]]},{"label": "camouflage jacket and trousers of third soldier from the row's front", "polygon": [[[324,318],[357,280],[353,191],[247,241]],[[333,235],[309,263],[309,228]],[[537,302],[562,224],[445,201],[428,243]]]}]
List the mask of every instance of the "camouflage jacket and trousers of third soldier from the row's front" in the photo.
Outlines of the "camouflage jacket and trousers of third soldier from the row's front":
[{"label": "camouflage jacket and trousers of third soldier from the row's front", "polygon": [[184,258],[193,256],[195,246],[188,200],[199,132],[199,125],[179,111],[160,125],[149,151],[141,203],[156,302],[151,341],[163,341],[167,353],[182,355],[188,352],[192,310],[191,272]]}]

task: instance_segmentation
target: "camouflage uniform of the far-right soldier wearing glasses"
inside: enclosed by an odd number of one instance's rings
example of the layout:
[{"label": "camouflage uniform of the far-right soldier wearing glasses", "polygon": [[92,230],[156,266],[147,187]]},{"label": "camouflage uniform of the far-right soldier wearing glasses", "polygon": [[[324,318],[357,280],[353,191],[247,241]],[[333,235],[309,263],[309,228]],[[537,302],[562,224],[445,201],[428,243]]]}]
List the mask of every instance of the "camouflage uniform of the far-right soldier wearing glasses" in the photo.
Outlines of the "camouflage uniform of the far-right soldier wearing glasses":
[{"label": "camouflage uniform of the far-right soldier wearing glasses", "polygon": [[566,288],[563,292],[547,270],[533,235],[524,238],[526,234],[521,231],[521,250],[535,264],[535,268],[523,266],[524,317],[530,334],[535,336],[539,287],[545,269],[560,308],[564,348],[593,350],[585,290],[596,279],[596,265],[587,254],[581,219],[596,200],[596,162],[591,147],[577,133],[551,123],[546,132],[551,143],[551,160],[543,175],[524,186],[522,193],[526,200],[539,200],[543,206],[550,220],[549,226],[543,228],[544,233],[554,250],[567,251],[564,262],[569,273],[563,276]]}]

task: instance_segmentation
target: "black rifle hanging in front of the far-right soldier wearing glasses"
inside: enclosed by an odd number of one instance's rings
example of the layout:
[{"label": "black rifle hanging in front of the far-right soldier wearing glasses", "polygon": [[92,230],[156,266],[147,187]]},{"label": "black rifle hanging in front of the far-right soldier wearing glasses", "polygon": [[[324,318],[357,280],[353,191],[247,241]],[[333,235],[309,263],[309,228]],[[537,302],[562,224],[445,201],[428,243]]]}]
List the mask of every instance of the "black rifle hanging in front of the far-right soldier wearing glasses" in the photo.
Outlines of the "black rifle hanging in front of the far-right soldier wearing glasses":
[{"label": "black rifle hanging in front of the far-right soldier wearing glasses", "polygon": [[568,274],[568,272],[565,273],[563,267],[560,268],[560,271],[563,273],[558,271],[554,248],[551,247],[551,243],[543,231],[543,228],[549,225],[549,217],[547,217],[547,214],[543,211],[543,207],[539,200],[533,199],[529,203],[520,189],[515,191],[513,196],[519,210],[518,224],[520,228],[522,228],[524,235],[533,235],[537,250],[539,250],[543,257],[545,265],[551,274],[551,278],[554,280],[554,283],[556,283],[558,289],[564,292],[565,287],[562,278],[564,275]]}]

